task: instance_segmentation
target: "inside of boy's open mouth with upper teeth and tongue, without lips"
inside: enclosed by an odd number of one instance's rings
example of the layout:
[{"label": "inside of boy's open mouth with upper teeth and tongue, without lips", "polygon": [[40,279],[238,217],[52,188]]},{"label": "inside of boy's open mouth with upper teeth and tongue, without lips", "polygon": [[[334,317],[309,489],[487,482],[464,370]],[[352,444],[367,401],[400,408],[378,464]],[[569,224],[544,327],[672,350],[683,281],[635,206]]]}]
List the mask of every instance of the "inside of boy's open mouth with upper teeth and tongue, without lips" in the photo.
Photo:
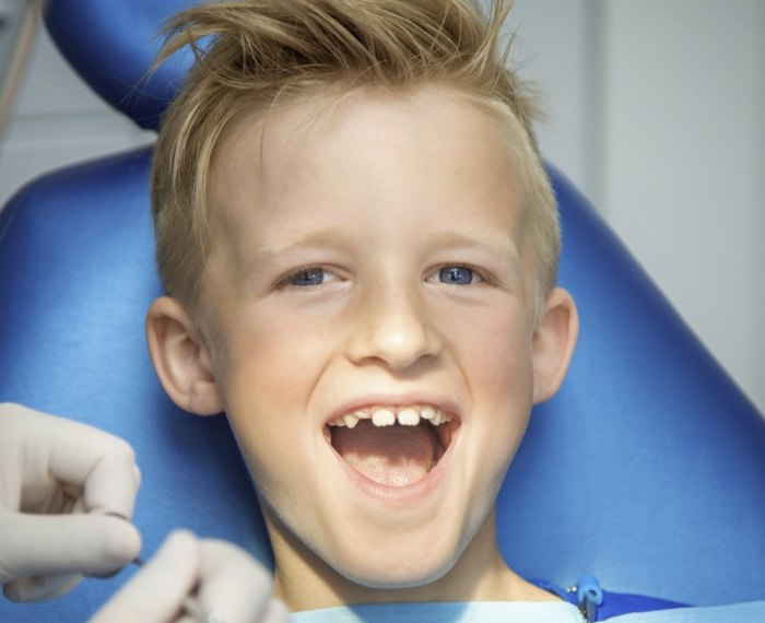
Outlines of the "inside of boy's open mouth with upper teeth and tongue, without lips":
[{"label": "inside of boy's open mouth with upper teeth and tongue, without lips", "polygon": [[429,404],[369,407],[328,422],[336,451],[386,486],[420,482],[446,454],[459,420]]}]

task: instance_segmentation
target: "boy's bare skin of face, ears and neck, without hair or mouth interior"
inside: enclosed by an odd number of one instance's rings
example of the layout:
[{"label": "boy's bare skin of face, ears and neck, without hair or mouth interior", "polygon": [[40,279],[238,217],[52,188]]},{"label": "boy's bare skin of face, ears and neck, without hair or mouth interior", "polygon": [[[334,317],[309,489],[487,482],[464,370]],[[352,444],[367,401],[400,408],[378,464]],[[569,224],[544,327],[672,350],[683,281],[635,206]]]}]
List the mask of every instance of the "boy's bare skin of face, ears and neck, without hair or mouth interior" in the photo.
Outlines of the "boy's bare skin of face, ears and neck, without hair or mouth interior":
[{"label": "boy's bare skin of face, ears and neck, without hair or mouth interior", "polygon": [[[494,503],[577,318],[560,289],[537,308],[522,189],[495,128],[433,86],[244,121],[214,171],[205,331],[175,299],[150,310],[170,397],[226,411],[292,610],[553,599],[503,561]],[[444,465],[408,492],[360,485],[327,421],[423,403],[458,422]]]}]

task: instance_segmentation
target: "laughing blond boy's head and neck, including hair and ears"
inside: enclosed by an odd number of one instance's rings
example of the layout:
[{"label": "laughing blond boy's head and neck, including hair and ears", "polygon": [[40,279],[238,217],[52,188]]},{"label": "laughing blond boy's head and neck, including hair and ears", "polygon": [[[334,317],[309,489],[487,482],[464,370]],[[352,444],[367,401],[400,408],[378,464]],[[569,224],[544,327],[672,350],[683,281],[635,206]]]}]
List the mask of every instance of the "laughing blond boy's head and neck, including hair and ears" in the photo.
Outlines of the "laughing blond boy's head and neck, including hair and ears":
[{"label": "laughing blond boy's head and neck, including hair and ears", "polygon": [[495,539],[577,334],[508,8],[233,2],[172,24],[163,58],[191,42],[199,61],[155,155],[150,350],[178,405],[225,410],[294,612],[560,599]]}]

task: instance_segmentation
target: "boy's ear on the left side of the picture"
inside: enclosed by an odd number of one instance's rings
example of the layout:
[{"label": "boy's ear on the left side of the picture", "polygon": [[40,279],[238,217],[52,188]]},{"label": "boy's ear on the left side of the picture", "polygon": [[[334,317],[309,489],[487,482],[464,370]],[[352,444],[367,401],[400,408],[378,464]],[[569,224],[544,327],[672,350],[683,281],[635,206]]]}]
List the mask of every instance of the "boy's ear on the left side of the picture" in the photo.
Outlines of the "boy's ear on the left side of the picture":
[{"label": "boy's ear on the left side of the picture", "polygon": [[197,415],[223,411],[210,352],[178,301],[162,296],[152,303],[146,341],[156,375],[173,402]]}]

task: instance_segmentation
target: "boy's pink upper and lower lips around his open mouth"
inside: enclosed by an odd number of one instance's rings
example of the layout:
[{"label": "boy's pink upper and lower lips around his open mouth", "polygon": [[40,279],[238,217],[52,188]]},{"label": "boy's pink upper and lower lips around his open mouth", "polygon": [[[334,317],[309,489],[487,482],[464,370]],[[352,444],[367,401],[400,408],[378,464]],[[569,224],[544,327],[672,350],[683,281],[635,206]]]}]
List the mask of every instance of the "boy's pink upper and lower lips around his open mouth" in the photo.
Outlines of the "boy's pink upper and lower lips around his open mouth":
[{"label": "boy's pink upper and lower lips around his open mouth", "polygon": [[349,481],[354,485],[354,487],[364,494],[365,497],[373,498],[375,501],[381,502],[386,505],[393,506],[407,506],[417,502],[421,502],[429,497],[435,491],[437,491],[449,473],[451,465],[454,462],[454,457],[457,454],[457,448],[459,446],[460,430],[462,426],[460,411],[457,405],[449,400],[445,400],[443,397],[436,397],[433,395],[425,393],[408,393],[408,395],[365,395],[364,397],[355,398],[346,401],[327,418],[323,424],[325,431],[329,427],[329,422],[351,413],[355,410],[366,409],[369,407],[405,407],[410,404],[431,404],[437,409],[451,414],[458,422],[458,425],[451,433],[451,440],[448,448],[440,457],[437,465],[427,473],[422,480],[405,485],[405,486],[387,486],[375,482],[355,469],[353,469],[345,460],[340,456],[340,454],[334,449],[330,439],[328,438],[328,433],[325,435],[327,438],[327,445],[334,455],[340,469],[345,473]]}]

